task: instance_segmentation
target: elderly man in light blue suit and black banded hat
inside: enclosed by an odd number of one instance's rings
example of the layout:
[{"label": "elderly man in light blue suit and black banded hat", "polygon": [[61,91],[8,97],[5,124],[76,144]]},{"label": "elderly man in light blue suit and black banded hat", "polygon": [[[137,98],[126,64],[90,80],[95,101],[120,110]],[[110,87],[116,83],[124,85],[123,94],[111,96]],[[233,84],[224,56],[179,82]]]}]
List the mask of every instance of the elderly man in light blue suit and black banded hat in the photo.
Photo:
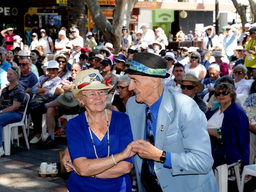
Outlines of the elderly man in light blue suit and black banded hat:
[{"label": "elderly man in light blue suit and black banded hat", "polygon": [[[167,61],[134,54],[128,100],[139,192],[217,192],[207,120],[197,103],[164,87]],[[147,140],[147,141],[146,141]]]}]

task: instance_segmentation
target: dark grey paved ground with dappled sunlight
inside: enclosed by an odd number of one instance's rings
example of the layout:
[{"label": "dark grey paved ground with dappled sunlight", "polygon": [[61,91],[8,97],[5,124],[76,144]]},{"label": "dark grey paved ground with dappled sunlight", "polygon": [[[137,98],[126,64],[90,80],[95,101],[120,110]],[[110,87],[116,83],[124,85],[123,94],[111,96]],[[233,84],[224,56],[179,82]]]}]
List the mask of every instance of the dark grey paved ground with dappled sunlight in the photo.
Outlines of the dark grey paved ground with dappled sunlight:
[{"label": "dark grey paved ground with dappled sunlight", "polygon": [[[31,139],[31,138],[30,138]],[[39,144],[30,145],[27,150],[23,138],[20,148],[11,148],[10,156],[0,158],[0,192],[67,192],[68,175],[41,177],[41,162],[57,162],[60,172],[59,151],[67,147],[66,138],[56,138],[56,146],[50,150],[40,150]],[[245,184],[245,192],[256,192],[256,177]],[[228,192],[236,192],[236,181],[228,181]]]}]

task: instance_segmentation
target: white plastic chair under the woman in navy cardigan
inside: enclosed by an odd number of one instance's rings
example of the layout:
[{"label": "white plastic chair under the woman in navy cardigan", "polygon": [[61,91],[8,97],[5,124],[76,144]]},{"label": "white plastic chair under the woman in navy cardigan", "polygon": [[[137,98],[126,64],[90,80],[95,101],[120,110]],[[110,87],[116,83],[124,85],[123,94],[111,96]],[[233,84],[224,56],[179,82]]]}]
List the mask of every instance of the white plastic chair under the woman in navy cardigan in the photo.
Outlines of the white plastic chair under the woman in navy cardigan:
[{"label": "white plastic chair under the woman in navy cardigan", "polygon": [[233,167],[235,169],[236,174],[236,183],[238,191],[240,192],[241,187],[241,181],[240,181],[240,171],[239,171],[239,162],[234,162],[233,164],[227,165],[223,164],[220,166],[217,166],[215,169],[215,177],[217,181],[217,185],[219,187],[219,192],[228,192],[228,169],[230,167]]}]

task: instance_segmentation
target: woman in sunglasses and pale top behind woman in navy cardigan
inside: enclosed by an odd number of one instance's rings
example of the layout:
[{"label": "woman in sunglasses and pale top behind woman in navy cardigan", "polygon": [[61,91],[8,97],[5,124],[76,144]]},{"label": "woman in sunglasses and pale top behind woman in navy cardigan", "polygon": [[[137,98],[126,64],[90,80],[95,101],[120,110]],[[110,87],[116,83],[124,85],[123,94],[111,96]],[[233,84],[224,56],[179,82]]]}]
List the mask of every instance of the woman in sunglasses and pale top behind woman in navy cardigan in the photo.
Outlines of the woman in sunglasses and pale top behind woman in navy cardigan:
[{"label": "woman in sunglasses and pale top behind woman in navy cardigan", "polygon": [[245,79],[247,73],[246,66],[239,64],[233,70],[236,94],[250,94],[250,82]]}]

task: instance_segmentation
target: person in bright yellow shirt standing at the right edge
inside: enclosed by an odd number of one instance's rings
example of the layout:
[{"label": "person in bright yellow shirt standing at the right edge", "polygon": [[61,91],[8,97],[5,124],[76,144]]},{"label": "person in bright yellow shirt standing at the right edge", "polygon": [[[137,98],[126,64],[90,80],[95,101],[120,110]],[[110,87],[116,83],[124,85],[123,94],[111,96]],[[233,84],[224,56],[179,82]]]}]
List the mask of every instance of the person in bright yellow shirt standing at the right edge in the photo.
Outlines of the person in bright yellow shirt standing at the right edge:
[{"label": "person in bright yellow shirt standing at the right edge", "polygon": [[252,27],[249,30],[250,40],[245,46],[245,51],[248,53],[245,57],[245,66],[247,67],[247,76],[250,79],[256,79],[256,27]]}]

